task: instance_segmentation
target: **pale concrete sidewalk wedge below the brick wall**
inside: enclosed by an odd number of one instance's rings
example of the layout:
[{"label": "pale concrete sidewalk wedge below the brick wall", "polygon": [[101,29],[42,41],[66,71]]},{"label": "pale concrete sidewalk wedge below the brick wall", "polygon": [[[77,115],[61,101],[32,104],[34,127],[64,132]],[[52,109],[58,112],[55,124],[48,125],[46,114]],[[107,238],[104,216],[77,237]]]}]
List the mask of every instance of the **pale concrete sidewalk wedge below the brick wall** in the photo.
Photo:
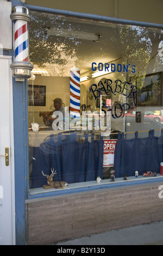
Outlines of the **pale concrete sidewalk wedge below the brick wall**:
[{"label": "pale concrete sidewalk wedge below the brick wall", "polygon": [[107,231],[57,245],[163,245],[163,221]]}]

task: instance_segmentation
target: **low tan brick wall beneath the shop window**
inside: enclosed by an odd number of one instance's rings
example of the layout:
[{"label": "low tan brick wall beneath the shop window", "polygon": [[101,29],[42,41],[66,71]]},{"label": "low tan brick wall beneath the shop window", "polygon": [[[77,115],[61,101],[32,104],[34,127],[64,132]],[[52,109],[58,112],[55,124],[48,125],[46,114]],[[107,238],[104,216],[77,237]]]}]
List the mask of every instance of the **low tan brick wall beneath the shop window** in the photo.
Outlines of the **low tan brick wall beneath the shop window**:
[{"label": "low tan brick wall beneath the shop window", "polygon": [[161,182],[70,194],[27,204],[28,245],[46,245],[163,220]]}]

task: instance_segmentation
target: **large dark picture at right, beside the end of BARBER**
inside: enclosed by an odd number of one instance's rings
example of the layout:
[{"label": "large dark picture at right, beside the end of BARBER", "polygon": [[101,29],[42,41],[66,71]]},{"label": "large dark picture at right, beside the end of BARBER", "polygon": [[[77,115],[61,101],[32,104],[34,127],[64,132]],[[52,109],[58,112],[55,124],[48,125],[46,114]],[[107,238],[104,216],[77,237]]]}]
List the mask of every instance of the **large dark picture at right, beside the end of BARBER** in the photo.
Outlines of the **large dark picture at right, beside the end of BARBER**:
[{"label": "large dark picture at right, beside the end of BARBER", "polygon": [[137,84],[137,106],[162,106],[162,72],[146,75],[143,84]]}]

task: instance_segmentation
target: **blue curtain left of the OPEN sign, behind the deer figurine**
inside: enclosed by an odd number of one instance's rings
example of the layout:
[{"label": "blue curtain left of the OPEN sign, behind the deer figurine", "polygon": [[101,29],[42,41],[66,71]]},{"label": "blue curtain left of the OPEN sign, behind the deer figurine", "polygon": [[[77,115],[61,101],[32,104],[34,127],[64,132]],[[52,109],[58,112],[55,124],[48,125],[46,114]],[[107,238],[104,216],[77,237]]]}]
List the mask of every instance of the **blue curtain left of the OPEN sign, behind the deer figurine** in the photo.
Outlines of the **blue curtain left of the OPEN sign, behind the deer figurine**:
[{"label": "blue curtain left of the OPEN sign, behind the deer figurine", "polygon": [[33,149],[32,188],[47,184],[47,178],[42,175],[51,174],[51,168],[57,170],[53,180],[63,180],[70,183],[96,180],[103,178],[103,137],[94,139],[86,133],[82,135],[83,142],[77,142],[77,134],[60,134],[48,136],[40,147]]}]

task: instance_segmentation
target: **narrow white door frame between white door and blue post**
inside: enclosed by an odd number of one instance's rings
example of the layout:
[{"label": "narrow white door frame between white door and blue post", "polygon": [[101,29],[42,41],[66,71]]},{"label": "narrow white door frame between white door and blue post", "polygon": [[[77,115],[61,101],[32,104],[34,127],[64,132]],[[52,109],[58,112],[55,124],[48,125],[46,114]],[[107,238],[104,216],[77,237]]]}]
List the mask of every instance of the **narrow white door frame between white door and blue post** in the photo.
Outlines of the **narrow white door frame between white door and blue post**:
[{"label": "narrow white door frame between white door and blue post", "polygon": [[10,64],[12,63],[11,56],[2,56],[0,59],[8,59],[8,74],[9,74],[9,119],[10,119],[10,149],[9,161],[11,168],[11,229],[12,229],[12,245],[15,245],[15,168],[14,168],[14,118],[13,118],[13,98],[12,98],[12,72]]}]

